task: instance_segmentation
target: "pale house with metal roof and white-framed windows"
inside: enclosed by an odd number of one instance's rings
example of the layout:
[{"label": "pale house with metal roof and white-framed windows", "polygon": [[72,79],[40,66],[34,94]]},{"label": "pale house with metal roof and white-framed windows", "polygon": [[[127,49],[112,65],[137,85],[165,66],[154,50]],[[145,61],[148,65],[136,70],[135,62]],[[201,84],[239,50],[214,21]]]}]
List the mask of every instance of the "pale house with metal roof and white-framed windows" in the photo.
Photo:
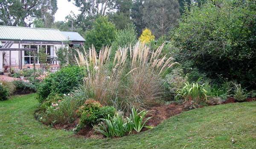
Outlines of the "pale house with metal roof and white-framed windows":
[{"label": "pale house with metal roof and white-framed windows", "polygon": [[[10,43],[10,41],[12,41]],[[13,49],[37,49],[44,48],[48,57],[56,57],[56,51],[61,47],[79,46],[84,43],[84,38],[77,32],[61,32],[58,29],[28,28],[16,26],[0,26],[0,47],[8,43],[8,48]],[[3,65],[22,66],[33,64],[33,56],[25,51],[12,51],[9,60],[8,51],[4,54],[0,51],[0,72]],[[3,60],[3,58],[5,60]],[[10,62],[9,62],[10,61]],[[4,64],[3,64],[4,63]],[[39,64],[39,60],[35,61]]]}]

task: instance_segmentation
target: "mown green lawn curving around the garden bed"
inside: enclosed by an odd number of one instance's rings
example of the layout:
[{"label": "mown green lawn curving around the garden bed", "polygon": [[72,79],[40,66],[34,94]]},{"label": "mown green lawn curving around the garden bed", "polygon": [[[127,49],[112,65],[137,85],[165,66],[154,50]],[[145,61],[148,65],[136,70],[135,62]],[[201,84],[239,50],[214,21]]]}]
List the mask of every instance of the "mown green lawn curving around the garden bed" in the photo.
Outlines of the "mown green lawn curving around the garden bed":
[{"label": "mown green lawn curving around the garden bed", "polygon": [[256,148],[256,102],[191,110],[137,135],[96,140],[39,123],[33,117],[37,108],[34,96],[0,102],[0,149]]}]

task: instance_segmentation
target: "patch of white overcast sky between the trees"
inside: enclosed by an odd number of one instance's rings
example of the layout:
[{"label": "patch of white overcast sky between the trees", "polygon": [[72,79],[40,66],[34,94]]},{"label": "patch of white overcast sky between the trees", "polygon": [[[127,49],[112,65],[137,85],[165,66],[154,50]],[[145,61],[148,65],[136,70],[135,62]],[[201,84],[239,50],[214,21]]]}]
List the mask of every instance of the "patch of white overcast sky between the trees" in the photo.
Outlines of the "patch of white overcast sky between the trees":
[{"label": "patch of white overcast sky between the trees", "polygon": [[56,21],[65,21],[65,17],[70,14],[70,11],[73,11],[76,15],[80,14],[79,8],[76,7],[71,0],[57,0],[58,1],[58,10],[55,13],[55,22]]}]

